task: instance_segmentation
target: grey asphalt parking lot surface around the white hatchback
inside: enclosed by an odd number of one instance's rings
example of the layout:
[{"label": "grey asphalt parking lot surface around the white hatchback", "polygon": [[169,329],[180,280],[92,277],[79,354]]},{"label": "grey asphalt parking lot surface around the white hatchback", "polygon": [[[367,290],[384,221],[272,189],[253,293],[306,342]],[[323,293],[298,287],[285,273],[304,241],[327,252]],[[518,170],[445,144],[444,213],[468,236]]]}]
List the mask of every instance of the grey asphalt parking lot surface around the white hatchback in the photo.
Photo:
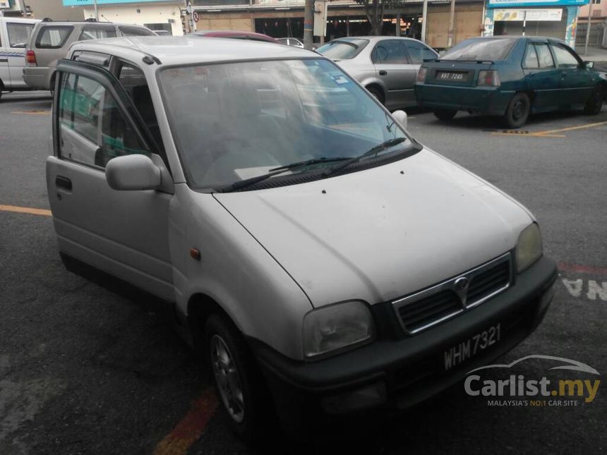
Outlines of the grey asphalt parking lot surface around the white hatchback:
[{"label": "grey asphalt parking lot surface around the white hatchback", "polygon": [[[579,406],[491,406],[457,384],[409,411],[361,419],[365,431],[296,442],[276,430],[268,447],[248,449],[227,429],[208,373],[174,332],[167,308],[61,264],[44,180],[50,109],[45,92],[0,102],[0,454],[607,451],[602,384]],[[591,117],[531,117],[520,131],[504,131],[491,118],[460,113],[443,123],[412,110],[408,130],[526,205],[539,220],[546,255],[559,264],[546,319],[500,363],[555,356],[602,377],[607,107]],[[517,374],[539,379],[545,370],[529,360]]]}]

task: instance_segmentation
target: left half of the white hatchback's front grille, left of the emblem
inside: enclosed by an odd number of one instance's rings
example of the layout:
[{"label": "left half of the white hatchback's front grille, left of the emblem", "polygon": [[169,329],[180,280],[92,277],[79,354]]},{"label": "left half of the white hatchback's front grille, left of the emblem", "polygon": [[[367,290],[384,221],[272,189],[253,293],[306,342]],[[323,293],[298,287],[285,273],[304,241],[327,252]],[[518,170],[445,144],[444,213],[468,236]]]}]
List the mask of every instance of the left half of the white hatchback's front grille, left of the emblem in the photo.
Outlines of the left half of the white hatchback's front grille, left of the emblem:
[{"label": "left half of the white hatchback's front grille, left of the emblem", "polygon": [[410,305],[403,305],[398,309],[398,314],[407,330],[415,332],[462,311],[462,302],[457,294],[447,289]]}]

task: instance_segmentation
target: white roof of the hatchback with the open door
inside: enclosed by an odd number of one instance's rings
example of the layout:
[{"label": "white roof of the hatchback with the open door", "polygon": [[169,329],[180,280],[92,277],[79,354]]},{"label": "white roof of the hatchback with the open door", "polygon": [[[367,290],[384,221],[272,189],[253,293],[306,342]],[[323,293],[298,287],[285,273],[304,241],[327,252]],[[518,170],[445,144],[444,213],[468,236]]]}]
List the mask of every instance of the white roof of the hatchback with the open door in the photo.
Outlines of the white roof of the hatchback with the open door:
[{"label": "white roof of the hatchback with the open door", "polygon": [[208,63],[219,61],[244,61],[260,59],[293,59],[325,57],[313,51],[293,46],[277,45],[270,42],[234,40],[200,36],[145,36],[121,37],[106,40],[76,42],[73,51],[97,51],[135,61],[145,55],[154,56],[162,66]]}]

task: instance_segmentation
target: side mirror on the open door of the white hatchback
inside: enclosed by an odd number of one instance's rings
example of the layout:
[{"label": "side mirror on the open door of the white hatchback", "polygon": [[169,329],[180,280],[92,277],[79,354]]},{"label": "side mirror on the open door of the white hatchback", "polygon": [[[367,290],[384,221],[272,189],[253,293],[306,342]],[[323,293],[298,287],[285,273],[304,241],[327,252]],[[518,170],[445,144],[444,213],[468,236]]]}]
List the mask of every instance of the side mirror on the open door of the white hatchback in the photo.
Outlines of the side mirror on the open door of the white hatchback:
[{"label": "side mirror on the open door of the white hatchback", "polygon": [[105,179],[114,190],[154,190],[162,183],[162,172],[145,155],[128,154],[107,162]]}]

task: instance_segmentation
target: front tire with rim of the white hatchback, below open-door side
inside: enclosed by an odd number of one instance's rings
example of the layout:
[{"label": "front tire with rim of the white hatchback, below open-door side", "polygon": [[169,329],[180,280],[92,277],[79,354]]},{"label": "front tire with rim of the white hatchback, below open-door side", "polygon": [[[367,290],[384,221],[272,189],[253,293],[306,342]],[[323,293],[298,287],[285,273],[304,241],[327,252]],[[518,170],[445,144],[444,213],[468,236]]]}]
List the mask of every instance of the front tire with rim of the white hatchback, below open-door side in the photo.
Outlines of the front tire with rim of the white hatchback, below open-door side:
[{"label": "front tire with rim of the white hatchback, below open-door side", "polygon": [[247,444],[261,442],[274,406],[244,337],[215,314],[205,323],[205,340],[215,393],[232,431]]}]

